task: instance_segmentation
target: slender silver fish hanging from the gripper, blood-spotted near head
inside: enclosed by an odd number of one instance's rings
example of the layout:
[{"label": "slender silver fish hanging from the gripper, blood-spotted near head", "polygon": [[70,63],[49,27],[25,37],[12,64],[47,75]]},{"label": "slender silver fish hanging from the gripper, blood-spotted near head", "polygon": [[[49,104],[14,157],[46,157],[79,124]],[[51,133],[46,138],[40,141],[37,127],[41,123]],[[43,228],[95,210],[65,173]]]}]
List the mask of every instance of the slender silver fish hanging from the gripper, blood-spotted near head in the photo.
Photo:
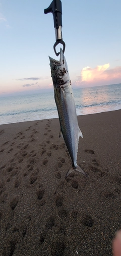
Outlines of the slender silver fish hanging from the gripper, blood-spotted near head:
[{"label": "slender silver fish hanging from the gripper, blood-spotted near head", "polygon": [[49,57],[49,60],[54,87],[54,99],[61,126],[59,137],[62,136],[64,138],[72,160],[72,167],[68,170],[66,179],[73,171],[79,171],[87,176],[82,168],[77,165],[79,137],[83,138],[83,135],[78,126],[73,90],[63,49],[60,49],[59,61],[51,57]]}]

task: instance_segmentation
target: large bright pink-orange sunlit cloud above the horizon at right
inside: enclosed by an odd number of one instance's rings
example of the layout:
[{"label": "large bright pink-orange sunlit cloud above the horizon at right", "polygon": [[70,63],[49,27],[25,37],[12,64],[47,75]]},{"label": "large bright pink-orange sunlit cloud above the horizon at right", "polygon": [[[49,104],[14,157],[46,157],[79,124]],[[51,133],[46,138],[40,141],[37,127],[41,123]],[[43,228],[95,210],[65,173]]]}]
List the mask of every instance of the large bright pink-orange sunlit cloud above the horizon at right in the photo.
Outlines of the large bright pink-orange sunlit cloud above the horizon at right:
[{"label": "large bright pink-orange sunlit cloud above the horizon at right", "polygon": [[109,63],[95,68],[85,67],[75,80],[77,86],[95,86],[121,82],[121,67],[109,69]]}]

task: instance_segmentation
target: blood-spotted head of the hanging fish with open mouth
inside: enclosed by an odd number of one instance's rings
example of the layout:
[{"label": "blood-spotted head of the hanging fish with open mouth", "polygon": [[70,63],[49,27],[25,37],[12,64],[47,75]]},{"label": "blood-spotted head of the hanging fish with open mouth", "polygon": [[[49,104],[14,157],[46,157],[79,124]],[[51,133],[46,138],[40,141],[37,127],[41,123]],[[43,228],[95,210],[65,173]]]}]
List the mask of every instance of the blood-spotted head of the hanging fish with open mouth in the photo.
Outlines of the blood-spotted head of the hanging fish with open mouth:
[{"label": "blood-spotted head of the hanging fish with open mouth", "polygon": [[51,68],[51,77],[53,80],[54,87],[59,87],[66,84],[69,78],[68,65],[63,53],[63,49],[60,50],[60,59],[56,61],[49,57],[50,68]]}]

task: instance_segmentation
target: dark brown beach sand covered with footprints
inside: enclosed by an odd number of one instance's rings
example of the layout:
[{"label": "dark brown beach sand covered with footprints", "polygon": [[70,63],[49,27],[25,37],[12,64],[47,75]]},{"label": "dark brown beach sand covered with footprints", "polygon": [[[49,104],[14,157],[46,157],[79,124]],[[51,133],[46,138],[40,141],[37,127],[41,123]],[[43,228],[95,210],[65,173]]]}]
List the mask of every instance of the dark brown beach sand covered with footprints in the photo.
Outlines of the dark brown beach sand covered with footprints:
[{"label": "dark brown beach sand covered with footprints", "polygon": [[0,255],[106,256],[121,228],[121,110],[78,116],[73,172],[59,120],[0,126]]}]

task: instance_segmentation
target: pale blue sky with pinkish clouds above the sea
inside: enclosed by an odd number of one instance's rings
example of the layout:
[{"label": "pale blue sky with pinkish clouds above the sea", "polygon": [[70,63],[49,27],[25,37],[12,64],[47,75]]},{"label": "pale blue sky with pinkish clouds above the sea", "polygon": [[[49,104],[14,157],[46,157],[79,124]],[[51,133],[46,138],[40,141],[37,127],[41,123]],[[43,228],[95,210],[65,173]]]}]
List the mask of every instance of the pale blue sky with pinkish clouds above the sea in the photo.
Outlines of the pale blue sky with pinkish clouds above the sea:
[{"label": "pale blue sky with pinkish clouds above the sea", "polygon": [[[0,97],[53,88],[49,0],[0,0]],[[121,83],[121,1],[62,0],[63,40],[73,88]],[[56,51],[62,44],[56,47]]]}]

